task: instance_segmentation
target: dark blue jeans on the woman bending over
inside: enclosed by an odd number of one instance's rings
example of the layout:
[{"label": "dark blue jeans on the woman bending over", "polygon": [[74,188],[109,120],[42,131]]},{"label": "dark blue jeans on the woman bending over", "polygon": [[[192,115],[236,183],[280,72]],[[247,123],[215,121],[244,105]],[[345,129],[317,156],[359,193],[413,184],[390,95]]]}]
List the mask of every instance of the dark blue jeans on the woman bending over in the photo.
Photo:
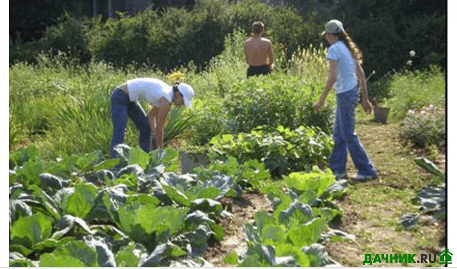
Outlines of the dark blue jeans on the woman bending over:
[{"label": "dark blue jeans on the woman bending over", "polygon": [[111,120],[113,121],[113,137],[111,138],[110,155],[116,157],[114,146],[124,142],[127,116],[135,123],[140,131],[140,147],[149,152],[151,150],[151,127],[146,113],[137,102],[131,102],[128,94],[116,88],[111,94]]}]

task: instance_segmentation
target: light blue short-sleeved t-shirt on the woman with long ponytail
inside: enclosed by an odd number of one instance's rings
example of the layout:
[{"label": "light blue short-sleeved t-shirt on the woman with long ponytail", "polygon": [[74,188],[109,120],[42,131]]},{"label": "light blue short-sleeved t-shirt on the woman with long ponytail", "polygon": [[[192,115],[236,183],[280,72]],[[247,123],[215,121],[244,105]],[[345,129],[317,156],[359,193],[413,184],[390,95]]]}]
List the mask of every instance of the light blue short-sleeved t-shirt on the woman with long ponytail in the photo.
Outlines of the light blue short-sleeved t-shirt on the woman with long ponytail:
[{"label": "light blue short-sleeved t-shirt on the woman with long ponytail", "polygon": [[329,47],[327,59],[337,61],[336,93],[345,92],[357,86],[356,61],[343,41],[338,40]]}]

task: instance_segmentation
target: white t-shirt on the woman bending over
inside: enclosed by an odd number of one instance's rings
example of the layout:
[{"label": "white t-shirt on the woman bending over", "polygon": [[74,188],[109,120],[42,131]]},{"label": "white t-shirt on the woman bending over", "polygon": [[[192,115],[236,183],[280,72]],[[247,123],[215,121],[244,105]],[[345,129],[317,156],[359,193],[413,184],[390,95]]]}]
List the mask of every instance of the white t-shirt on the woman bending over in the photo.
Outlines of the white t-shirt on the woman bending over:
[{"label": "white t-shirt on the woman bending over", "polygon": [[139,77],[127,81],[129,99],[131,102],[145,100],[149,104],[159,107],[159,99],[165,97],[169,102],[173,98],[173,89],[170,85],[157,78]]}]

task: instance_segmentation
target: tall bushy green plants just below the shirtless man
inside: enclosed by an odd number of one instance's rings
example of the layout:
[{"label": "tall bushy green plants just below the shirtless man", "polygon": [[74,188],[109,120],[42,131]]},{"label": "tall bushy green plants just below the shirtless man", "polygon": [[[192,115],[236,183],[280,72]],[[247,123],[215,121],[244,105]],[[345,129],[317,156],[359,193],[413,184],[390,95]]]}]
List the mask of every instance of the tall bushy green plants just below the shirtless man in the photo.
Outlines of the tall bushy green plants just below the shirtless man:
[{"label": "tall bushy green plants just below the shirtless man", "polygon": [[281,73],[239,81],[225,96],[232,132],[250,131],[261,125],[318,126],[328,131],[332,125],[332,98],[315,111],[324,84],[306,84],[298,77]]}]

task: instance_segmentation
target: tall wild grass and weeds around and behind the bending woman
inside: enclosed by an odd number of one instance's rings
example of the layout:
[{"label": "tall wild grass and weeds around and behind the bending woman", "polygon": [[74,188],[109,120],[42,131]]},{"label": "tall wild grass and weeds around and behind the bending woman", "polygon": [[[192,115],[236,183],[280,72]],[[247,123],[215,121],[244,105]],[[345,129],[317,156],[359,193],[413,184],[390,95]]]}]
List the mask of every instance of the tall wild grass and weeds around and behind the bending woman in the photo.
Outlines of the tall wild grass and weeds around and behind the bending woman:
[{"label": "tall wild grass and weeds around and behind the bending woman", "polygon": [[[199,139],[202,135],[212,137],[231,123],[220,122],[221,113],[224,113],[220,107],[232,84],[245,79],[244,38],[243,32],[227,36],[224,51],[203,71],[197,70],[192,63],[176,68],[185,73],[184,80],[194,87],[195,99],[192,110],[176,114],[169,126],[176,127],[176,131],[171,129],[168,133],[181,135],[195,144],[207,140]],[[323,47],[301,50],[290,62],[294,67],[277,68],[275,72],[282,73],[284,79],[287,75],[299,77],[306,85],[323,84],[323,72],[327,68],[325,53]],[[312,57],[313,61],[304,60],[304,56],[306,59]],[[63,53],[37,58],[35,65],[17,63],[10,67],[10,150],[33,143],[49,157],[57,157],[61,152],[84,153],[94,149],[107,155],[112,132],[111,90],[134,77],[157,77],[172,82],[166,74],[146,67],[117,69],[95,61],[80,65]],[[306,71],[299,69],[300,64],[306,65]],[[277,62],[277,66],[286,64]],[[143,107],[148,109],[147,105]],[[182,128],[181,123],[192,127]],[[138,143],[137,130],[130,121],[125,142],[131,146]]]}]

